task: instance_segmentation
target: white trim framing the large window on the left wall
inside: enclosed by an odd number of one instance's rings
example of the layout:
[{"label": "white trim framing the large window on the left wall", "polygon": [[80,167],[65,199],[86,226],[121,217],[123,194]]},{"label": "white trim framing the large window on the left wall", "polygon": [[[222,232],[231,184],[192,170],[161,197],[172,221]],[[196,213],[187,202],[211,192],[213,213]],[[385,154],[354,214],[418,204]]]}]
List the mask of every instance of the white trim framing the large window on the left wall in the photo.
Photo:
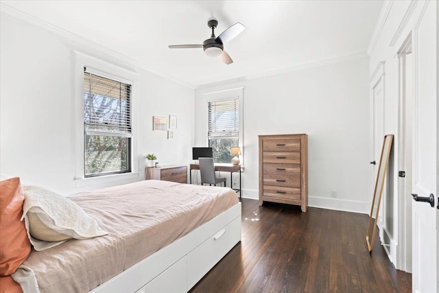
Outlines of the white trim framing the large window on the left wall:
[{"label": "white trim framing the large window on the left wall", "polygon": [[[75,186],[85,187],[89,185],[97,185],[104,183],[112,183],[119,180],[132,180],[139,178],[139,163],[137,157],[138,139],[137,139],[137,73],[124,69],[117,65],[99,60],[92,56],[82,54],[79,51],[74,51],[75,65],[74,65],[74,91],[73,91],[73,135],[75,136]],[[132,85],[130,104],[131,104],[131,172],[108,174],[102,176],[85,177],[84,176],[84,67],[87,71],[92,71],[94,74],[101,75],[104,78],[117,80]]]}]

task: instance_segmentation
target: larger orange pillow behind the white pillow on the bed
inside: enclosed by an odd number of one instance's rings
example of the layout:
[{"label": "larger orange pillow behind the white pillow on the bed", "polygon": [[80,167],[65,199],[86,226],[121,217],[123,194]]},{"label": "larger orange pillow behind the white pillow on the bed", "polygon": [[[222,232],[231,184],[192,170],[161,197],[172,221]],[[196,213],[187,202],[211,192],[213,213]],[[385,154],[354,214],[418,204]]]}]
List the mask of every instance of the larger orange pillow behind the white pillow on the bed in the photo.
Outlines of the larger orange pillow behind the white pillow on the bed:
[{"label": "larger orange pillow behind the white pillow on the bed", "polygon": [[25,222],[20,220],[24,199],[20,178],[0,181],[0,276],[14,274],[30,253]]}]

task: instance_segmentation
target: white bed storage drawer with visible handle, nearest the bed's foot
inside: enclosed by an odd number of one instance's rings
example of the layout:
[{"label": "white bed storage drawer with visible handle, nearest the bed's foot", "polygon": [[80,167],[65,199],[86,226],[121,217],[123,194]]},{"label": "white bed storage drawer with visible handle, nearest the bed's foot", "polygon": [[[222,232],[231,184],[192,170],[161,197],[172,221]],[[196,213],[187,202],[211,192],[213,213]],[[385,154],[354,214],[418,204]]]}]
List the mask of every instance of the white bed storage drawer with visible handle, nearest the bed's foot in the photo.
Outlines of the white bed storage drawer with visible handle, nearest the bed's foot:
[{"label": "white bed storage drawer with visible handle, nearest the bed's foot", "polygon": [[241,239],[241,217],[215,231],[209,239],[187,255],[187,290],[189,291],[206,272],[209,272]]}]

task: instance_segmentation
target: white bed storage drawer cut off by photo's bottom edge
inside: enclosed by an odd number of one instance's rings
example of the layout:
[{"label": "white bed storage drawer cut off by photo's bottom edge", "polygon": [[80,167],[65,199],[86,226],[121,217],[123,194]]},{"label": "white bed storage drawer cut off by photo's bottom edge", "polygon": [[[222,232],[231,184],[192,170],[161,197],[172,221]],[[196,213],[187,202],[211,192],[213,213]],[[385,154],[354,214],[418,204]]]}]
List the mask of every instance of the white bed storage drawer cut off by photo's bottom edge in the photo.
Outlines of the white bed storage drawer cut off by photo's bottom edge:
[{"label": "white bed storage drawer cut off by photo's bottom edge", "polygon": [[[144,285],[137,293],[185,293],[186,291],[187,257],[167,268],[164,272]],[[172,280],[171,282],[169,280]]]}]

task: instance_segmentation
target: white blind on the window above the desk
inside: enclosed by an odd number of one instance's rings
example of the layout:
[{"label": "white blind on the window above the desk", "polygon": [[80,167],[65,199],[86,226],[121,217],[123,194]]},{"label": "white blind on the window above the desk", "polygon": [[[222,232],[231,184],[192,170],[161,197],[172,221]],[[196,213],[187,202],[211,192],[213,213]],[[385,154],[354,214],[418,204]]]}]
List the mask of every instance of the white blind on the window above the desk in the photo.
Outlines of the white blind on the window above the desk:
[{"label": "white blind on the window above the desk", "polygon": [[209,139],[239,137],[239,98],[208,103]]}]

